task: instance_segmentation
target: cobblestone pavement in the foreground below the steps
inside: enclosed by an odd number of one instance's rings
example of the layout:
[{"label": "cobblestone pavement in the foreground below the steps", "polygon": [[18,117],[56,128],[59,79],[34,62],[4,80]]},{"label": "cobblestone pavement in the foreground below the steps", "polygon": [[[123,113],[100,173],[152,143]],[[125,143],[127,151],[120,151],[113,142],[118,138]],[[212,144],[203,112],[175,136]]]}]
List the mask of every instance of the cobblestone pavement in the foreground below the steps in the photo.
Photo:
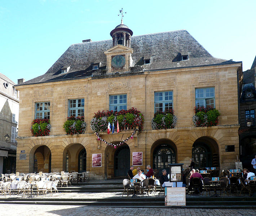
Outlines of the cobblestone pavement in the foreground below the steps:
[{"label": "cobblestone pavement in the foreground below the steps", "polygon": [[[180,209],[180,208],[101,208],[86,206],[54,206],[1,204],[1,215],[19,216],[98,216],[98,215],[159,215],[159,216],[252,216],[256,210],[245,209]],[[13,213],[12,213],[13,212]]]}]

